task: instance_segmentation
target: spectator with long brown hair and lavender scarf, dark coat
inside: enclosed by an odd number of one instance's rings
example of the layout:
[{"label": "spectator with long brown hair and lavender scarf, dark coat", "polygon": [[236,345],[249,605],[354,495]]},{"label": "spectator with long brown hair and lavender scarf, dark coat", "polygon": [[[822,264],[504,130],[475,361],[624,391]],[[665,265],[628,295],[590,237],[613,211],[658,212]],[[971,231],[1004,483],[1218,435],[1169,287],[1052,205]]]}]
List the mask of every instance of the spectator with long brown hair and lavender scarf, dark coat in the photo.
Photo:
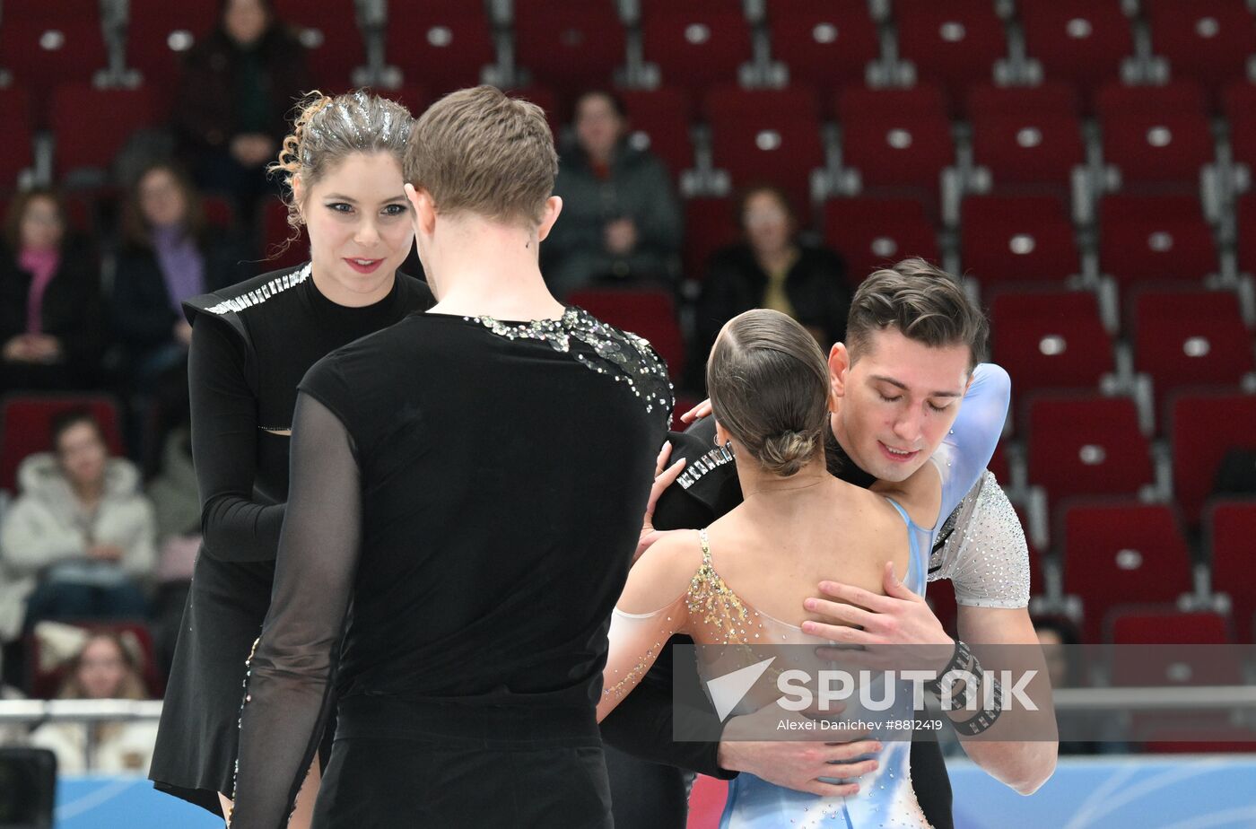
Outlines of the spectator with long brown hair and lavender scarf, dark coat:
[{"label": "spectator with long brown hair and lavender scarf, dark coat", "polygon": [[192,327],[182,301],[244,280],[244,259],[206,224],[200,193],[176,165],[154,162],[136,178],[122,214],[113,325],[137,388],[186,364]]}]

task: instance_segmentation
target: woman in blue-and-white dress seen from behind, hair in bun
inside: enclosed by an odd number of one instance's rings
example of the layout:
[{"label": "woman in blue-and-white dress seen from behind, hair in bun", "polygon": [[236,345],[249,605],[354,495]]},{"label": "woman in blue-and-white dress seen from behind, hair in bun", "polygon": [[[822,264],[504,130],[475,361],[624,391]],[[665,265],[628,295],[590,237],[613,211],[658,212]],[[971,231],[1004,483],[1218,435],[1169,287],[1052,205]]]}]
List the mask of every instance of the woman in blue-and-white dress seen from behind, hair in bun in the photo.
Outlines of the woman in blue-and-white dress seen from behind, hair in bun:
[{"label": "woman in blue-and-white dress seen from behind, hair in bun", "polygon": [[[810,652],[831,644],[806,632],[819,618],[801,612],[815,584],[840,578],[875,600],[887,594],[883,584],[892,564],[893,573],[902,574],[897,590],[924,593],[929,550],[918,543],[911,523],[927,505],[893,485],[848,484],[825,467],[833,392],[824,354],[806,329],[769,309],[728,320],[711,349],[707,391],[716,443],[734,457],[744,500],[706,529],[662,536],[633,565],[610,622],[599,721],[641,682],[661,652],[658,643],[676,633],[711,646],[698,664],[707,681],[767,657],[814,672],[833,663],[793,659],[772,648],[811,646]],[[766,675],[772,682],[756,683],[722,713],[749,715],[772,706],[780,696],[775,675],[781,669],[777,666]],[[730,784],[721,825],[767,829],[831,821],[928,829],[911,785],[911,731],[894,725],[911,720],[911,706],[903,705],[909,697],[909,692],[889,697],[888,711],[849,701],[843,718],[889,717],[870,734],[839,732],[842,741],[858,741],[860,754],[809,791],[739,775]],[[885,698],[883,690],[877,698]],[[769,712],[774,722],[789,716],[784,708]],[[803,720],[795,725],[805,725]],[[747,734],[746,739],[781,737]]]}]

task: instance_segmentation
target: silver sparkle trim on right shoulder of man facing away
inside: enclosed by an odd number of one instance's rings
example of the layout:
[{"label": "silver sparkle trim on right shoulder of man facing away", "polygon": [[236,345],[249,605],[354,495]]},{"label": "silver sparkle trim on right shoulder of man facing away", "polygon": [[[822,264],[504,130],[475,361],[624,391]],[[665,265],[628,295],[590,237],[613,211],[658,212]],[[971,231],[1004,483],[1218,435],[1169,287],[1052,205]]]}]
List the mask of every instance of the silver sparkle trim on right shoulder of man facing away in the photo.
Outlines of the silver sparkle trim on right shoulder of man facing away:
[{"label": "silver sparkle trim on right shoulder of man facing away", "polygon": [[466,317],[494,334],[506,339],[539,339],[563,354],[571,350],[571,340],[593,349],[593,354],[577,354],[578,363],[610,374],[615,382],[627,383],[641,398],[647,413],[658,411],[664,423],[672,421],[672,383],[667,363],[654,353],[649,342],[608,325],[583,308],[569,306],[559,319],[534,319],[529,323],[502,323],[491,317]]}]

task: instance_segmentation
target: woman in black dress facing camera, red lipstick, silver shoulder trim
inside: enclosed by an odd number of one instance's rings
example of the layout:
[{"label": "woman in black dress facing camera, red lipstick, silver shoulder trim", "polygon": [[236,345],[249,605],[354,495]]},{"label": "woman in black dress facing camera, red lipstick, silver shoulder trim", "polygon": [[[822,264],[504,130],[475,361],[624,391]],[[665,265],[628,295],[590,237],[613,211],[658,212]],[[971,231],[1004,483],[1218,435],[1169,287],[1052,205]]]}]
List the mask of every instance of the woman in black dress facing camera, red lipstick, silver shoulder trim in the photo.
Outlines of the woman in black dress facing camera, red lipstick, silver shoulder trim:
[{"label": "woman in black dress facing camera, red lipstick, silver shoulder trim", "polygon": [[[215,814],[234,795],[246,661],[270,607],[296,386],[325,354],[432,304],[398,271],[414,236],[412,124],[365,92],[311,94],[271,165],[310,261],[183,303],[202,543],[149,778]],[[317,789],[318,765],[289,826],[309,825]]]}]

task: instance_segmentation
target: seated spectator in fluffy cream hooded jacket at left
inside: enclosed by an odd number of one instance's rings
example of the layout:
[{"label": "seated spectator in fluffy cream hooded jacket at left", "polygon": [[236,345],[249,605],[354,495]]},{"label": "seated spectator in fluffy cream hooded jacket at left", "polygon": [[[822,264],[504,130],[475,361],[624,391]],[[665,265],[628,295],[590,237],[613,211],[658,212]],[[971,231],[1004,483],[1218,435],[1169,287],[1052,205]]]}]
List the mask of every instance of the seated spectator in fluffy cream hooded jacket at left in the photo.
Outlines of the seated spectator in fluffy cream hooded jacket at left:
[{"label": "seated spectator in fluffy cream hooded jacket at left", "polygon": [[153,572],[153,511],[139,474],[111,458],[85,411],[53,420],[53,452],[18,469],[19,496],[0,526],[0,558],[20,579],[25,627],[40,619],[142,618]]}]

